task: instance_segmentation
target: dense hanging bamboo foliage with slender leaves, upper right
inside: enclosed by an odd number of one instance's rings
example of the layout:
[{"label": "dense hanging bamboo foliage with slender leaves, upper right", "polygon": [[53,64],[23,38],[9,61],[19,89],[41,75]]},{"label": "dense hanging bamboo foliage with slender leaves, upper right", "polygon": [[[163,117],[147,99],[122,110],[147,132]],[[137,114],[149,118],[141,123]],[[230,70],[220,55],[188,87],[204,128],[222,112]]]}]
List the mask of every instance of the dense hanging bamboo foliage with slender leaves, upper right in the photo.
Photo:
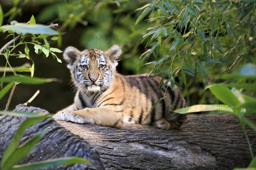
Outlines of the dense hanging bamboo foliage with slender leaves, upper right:
[{"label": "dense hanging bamboo foliage with slender leaves, upper right", "polygon": [[[151,64],[151,74],[169,81],[181,75],[174,83],[186,87],[188,103],[195,82],[208,85],[239,64],[256,62],[253,0],[157,0],[137,10],[136,23],[148,21],[143,42],[151,48],[141,55],[137,69]],[[201,103],[211,95],[202,90]]]}]

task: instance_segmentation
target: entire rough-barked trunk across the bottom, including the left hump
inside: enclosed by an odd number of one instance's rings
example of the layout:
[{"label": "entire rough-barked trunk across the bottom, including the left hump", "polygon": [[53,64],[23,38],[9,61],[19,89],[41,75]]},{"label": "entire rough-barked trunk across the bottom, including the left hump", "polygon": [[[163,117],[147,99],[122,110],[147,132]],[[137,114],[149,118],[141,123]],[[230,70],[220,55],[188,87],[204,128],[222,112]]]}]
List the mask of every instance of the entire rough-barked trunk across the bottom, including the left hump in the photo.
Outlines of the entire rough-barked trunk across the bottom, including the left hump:
[{"label": "entire rough-barked trunk across the bottom, including the left hump", "polygon": [[[250,119],[256,122],[254,116]],[[0,117],[0,159],[23,120],[25,118]],[[221,170],[247,167],[251,160],[243,130],[234,115],[191,114],[180,130],[159,130],[146,125],[116,129],[57,122],[62,127],[52,118],[47,118],[26,130],[20,143],[48,128],[40,143],[20,163],[79,156],[89,159],[93,167],[75,164],[52,169],[102,170],[104,166],[106,170]],[[256,133],[249,127],[246,130],[255,155]]]}]

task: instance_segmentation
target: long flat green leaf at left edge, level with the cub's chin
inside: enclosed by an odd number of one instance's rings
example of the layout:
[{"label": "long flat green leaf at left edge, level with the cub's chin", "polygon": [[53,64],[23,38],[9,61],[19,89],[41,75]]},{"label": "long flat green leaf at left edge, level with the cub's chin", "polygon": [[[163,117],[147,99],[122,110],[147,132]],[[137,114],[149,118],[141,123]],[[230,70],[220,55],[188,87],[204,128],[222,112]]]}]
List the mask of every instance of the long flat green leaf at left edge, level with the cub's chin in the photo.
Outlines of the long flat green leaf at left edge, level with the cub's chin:
[{"label": "long flat green leaf at left edge, level with the cub's chin", "polygon": [[30,77],[19,77],[19,76],[8,76],[8,77],[4,77],[4,78],[0,78],[0,81],[3,81],[3,83],[9,83],[12,81],[17,81],[17,82],[21,82],[23,84],[44,84],[44,83],[48,83],[48,82],[52,82],[52,81],[58,81],[58,79],[56,78],[30,78]]}]

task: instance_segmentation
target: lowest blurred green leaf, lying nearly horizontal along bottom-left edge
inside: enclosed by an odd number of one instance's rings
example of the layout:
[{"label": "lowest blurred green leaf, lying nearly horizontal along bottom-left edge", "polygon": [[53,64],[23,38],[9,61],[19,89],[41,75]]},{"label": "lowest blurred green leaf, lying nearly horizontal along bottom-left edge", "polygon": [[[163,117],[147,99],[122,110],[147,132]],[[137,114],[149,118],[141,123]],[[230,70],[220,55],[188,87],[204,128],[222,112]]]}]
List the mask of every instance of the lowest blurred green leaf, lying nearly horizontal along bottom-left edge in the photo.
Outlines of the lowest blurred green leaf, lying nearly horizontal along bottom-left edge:
[{"label": "lowest blurred green leaf, lying nearly horizontal along bottom-left edge", "polygon": [[65,158],[47,159],[45,161],[37,161],[37,162],[32,162],[27,164],[14,165],[12,170],[47,169],[49,167],[56,166],[56,165],[79,164],[79,163],[87,163],[91,165],[90,161],[84,158],[65,157]]}]

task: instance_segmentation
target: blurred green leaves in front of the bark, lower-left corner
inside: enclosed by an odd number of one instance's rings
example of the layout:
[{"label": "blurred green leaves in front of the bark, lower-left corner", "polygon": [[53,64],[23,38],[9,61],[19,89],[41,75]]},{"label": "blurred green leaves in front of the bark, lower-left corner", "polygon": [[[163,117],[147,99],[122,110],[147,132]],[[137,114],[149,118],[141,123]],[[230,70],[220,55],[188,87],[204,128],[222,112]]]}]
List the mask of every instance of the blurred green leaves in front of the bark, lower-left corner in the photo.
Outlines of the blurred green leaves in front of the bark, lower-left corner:
[{"label": "blurred green leaves in front of the bark, lower-left corner", "polygon": [[[33,124],[38,123],[39,121],[44,120],[45,118],[49,118],[50,114],[44,113],[31,113],[31,112],[7,112],[1,111],[1,114],[6,115],[14,115],[14,116],[24,116],[29,117],[27,120],[23,121],[20,124],[20,127],[16,131],[15,135],[12,137],[11,141],[20,141],[23,133]],[[39,132],[35,136],[26,140],[24,144],[14,144],[11,142],[9,146],[6,148],[3,158],[1,161],[1,169],[4,170],[32,170],[32,169],[40,169],[40,168],[48,168],[55,165],[60,164],[76,164],[76,163],[87,163],[90,164],[90,161],[83,158],[75,158],[75,157],[66,157],[66,158],[55,158],[48,159],[44,161],[38,161],[28,164],[19,164],[23,158],[32,150],[32,148],[37,144],[40,140],[38,138],[42,138],[44,134],[47,132],[47,129]]]}]

